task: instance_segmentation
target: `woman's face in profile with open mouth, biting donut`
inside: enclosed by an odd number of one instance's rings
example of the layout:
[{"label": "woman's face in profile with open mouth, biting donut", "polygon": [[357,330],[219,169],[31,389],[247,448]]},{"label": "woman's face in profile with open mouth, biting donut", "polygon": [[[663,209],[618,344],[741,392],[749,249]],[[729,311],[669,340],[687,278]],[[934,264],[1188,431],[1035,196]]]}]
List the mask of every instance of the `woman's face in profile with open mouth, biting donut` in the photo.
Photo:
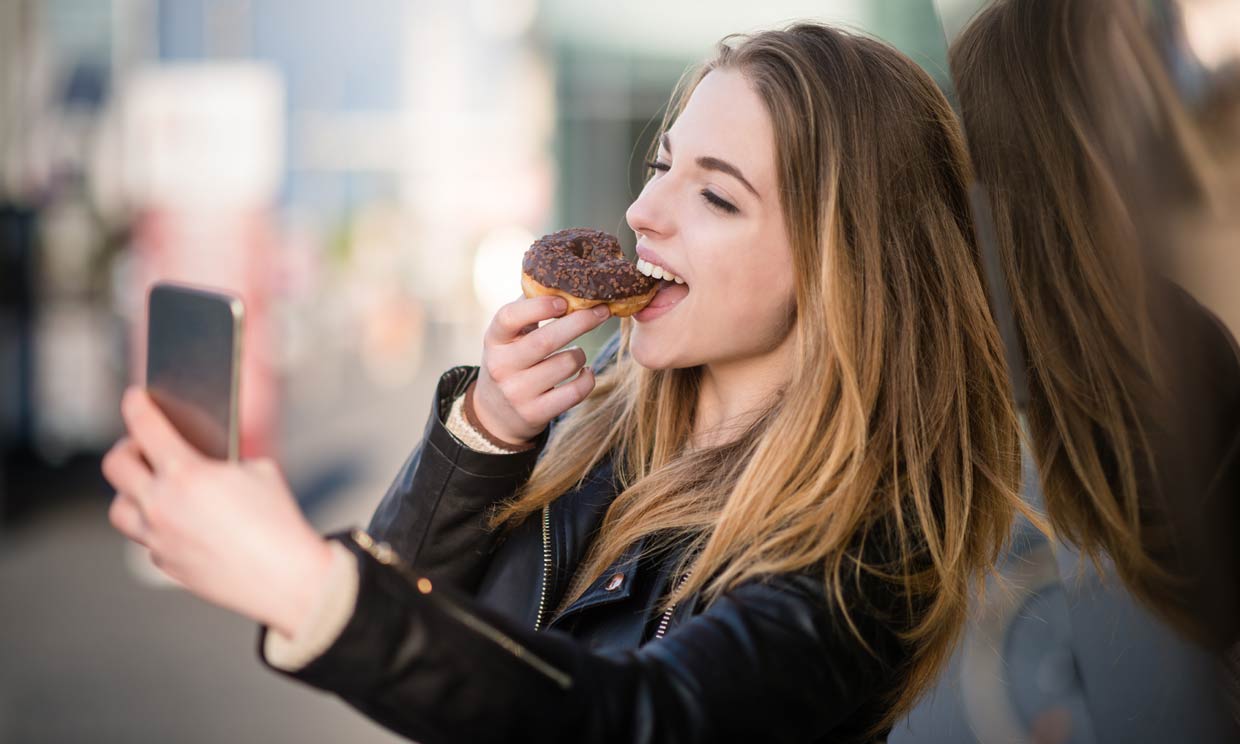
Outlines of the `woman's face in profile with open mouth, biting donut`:
[{"label": "woman's face in profile with open mouth, biting donut", "polygon": [[[739,72],[715,69],[662,136],[655,174],[626,213],[665,280],[634,319],[642,367],[732,362],[773,352],[791,330],[792,252],[770,115]],[[657,275],[657,273],[656,273]]]}]

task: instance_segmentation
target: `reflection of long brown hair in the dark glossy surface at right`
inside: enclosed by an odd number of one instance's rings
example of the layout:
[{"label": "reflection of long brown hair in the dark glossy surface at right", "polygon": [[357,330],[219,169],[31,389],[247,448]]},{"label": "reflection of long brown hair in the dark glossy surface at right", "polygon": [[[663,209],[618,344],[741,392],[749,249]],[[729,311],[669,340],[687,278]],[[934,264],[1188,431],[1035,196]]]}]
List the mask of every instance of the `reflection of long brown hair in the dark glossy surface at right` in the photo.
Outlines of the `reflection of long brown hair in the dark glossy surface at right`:
[{"label": "reflection of long brown hair in the dark glossy surface at right", "polygon": [[1195,190],[1200,146],[1125,0],[1001,0],[950,63],[1028,357],[1048,517],[1188,629],[1161,498],[1173,428],[1153,308],[1169,285],[1151,272],[1156,226],[1133,205],[1159,198],[1142,170]]}]

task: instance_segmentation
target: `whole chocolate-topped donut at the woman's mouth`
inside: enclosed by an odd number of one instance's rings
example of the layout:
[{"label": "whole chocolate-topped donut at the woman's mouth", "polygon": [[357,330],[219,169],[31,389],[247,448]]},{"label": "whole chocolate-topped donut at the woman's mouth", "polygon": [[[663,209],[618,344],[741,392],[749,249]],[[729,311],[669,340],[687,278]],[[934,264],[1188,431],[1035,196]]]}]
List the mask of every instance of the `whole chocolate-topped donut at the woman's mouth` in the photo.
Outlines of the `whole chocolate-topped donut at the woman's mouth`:
[{"label": "whole chocolate-topped donut at the woman's mouth", "polygon": [[562,296],[570,312],[606,305],[627,317],[655,299],[658,279],[639,272],[615,236],[575,227],[534,241],[521,260],[521,289],[527,298]]}]

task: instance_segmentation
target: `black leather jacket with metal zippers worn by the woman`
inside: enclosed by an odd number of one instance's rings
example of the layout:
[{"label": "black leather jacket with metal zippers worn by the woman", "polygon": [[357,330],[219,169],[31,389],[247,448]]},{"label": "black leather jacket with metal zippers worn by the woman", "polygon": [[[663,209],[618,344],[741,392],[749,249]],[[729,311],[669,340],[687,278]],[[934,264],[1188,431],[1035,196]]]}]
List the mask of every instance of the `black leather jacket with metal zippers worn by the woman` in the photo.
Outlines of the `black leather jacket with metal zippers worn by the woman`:
[{"label": "black leather jacket with metal zippers worn by the woman", "polygon": [[872,740],[904,651],[858,613],[874,653],[862,649],[816,575],[754,582],[709,608],[680,603],[655,639],[676,556],[639,559],[635,546],[549,616],[616,495],[611,467],[507,536],[486,531],[485,510],[525,482],[547,434],[512,455],[453,436],[449,405],[476,373],[440,379],[373,541],[334,536],[361,565],[345,630],[301,670],[272,668],[424,744]]}]

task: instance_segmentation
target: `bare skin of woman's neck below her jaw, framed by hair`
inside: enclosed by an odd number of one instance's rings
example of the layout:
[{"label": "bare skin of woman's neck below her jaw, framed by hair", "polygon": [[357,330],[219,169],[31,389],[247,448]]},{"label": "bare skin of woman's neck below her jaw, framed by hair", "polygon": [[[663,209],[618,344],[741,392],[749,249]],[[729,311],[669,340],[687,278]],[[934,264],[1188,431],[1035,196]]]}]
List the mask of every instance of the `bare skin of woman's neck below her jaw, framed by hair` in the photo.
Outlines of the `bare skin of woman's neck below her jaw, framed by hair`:
[{"label": "bare skin of woman's neck below her jaw, framed by hair", "polygon": [[727,444],[758,419],[789,381],[794,343],[794,335],[787,334],[763,355],[702,368],[689,438],[693,449]]}]

